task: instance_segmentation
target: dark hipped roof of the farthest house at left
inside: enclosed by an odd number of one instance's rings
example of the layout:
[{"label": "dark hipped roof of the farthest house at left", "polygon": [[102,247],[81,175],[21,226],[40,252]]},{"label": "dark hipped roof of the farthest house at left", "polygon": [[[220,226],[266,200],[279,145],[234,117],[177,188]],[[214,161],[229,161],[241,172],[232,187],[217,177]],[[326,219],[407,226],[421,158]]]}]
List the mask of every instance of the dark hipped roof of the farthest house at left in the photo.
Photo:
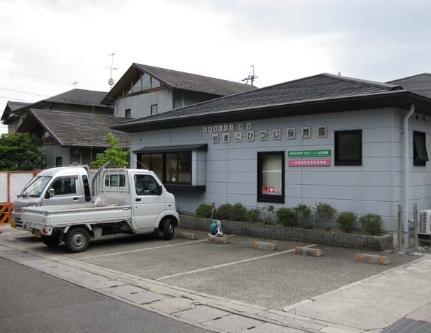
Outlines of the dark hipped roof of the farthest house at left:
[{"label": "dark hipped roof of the farthest house at left", "polygon": [[96,106],[98,108],[108,109],[108,106],[101,104],[101,100],[105,95],[105,91],[72,89],[69,91],[65,91],[62,94],[48,97],[30,105],[17,108],[14,112],[19,113],[27,108],[38,108],[38,106],[43,103],[73,104],[75,106]]}]

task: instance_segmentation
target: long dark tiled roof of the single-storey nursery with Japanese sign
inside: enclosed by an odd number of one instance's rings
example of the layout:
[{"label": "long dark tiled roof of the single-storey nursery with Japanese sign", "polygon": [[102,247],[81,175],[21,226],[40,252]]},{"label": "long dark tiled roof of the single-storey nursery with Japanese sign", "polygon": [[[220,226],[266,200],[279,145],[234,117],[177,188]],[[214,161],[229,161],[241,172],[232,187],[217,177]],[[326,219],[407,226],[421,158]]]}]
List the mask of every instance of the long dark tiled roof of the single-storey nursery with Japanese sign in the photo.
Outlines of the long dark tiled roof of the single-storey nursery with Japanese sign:
[{"label": "long dark tiled roof of the single-storey nursery with Japanese sign", "polygon": [[[220,121],[228,119],[234,120],[235,115],[237,115],[237,120],[275,117],[293,114],[289,113],[290,111],[293,112],[293,106],[296,106],[295,114],[317,113],[318,104],[320,106],[323,103],[328,105],[330,101],[332,108],[325,108],[325,112],[340,110],[341,105],[343,105],[343,108],[352,110],[365,106],[364,103],[352,103],[352,100],[358,100],[358,98],[364,100],[364,97],[369,100],[373,98],[374,104],[377,105],[375,103],[376,98],[390,95],[396,96],[395,93],[398,92],[405,91],[397,84],[366,81],[324,73],[197,103],[145,118],[125,121],[115,128],[126,132],[135,132],[175,127],[181,125],[181,122],[184,122],[184,125],[186,123],[191,125],[194,123],[208,123],[211,119],[213,122],[220,123]],[[401,98],[400,95],[398,96],[397,98]],[[350,103],[346,104],[345,101],[347,100],[350,100]],[[338,103],[337,108],[333,106],[335,102]],[[310,104],[314,105],[314,109],[310,108]],[[300,111],[297,107],[299,105],[307,105],[308,107],[306,109],[302,108]],[[279,111],[274,112],[275,108]],[[263,112],[264,110],[266,111]]]}]

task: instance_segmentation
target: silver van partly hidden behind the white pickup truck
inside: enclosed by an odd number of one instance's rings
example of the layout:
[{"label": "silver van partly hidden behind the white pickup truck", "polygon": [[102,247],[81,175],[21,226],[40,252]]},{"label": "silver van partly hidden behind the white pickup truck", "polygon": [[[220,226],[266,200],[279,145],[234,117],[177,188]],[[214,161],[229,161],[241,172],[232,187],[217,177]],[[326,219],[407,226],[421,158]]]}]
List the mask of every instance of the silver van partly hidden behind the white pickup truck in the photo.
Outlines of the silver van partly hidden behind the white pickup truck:
[{"label": "silver van partly hidden behind the white pickup truck", "polygon": [[22,208],[71,205],[91,201],[89,175],[83,166],[60,166],[41,171],[13,201],[12,226],[22,228]]}]

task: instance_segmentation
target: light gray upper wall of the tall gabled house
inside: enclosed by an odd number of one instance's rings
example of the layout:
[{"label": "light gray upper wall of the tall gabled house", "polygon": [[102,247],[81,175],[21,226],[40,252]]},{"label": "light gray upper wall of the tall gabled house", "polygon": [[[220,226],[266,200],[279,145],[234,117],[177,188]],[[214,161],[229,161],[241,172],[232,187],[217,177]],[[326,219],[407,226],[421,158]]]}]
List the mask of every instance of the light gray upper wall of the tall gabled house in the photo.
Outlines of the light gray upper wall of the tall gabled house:
[{"label": "light gray upper wall of the tall gabled house", "polygon": [[125,109],[130,108],[132,118],[145,117],[150,115],[152,104],[157,104],[157,113],[172,110],[172,90],[163,89],[147,94],[117,98],[114,104],[114,115],[124,117]]}]

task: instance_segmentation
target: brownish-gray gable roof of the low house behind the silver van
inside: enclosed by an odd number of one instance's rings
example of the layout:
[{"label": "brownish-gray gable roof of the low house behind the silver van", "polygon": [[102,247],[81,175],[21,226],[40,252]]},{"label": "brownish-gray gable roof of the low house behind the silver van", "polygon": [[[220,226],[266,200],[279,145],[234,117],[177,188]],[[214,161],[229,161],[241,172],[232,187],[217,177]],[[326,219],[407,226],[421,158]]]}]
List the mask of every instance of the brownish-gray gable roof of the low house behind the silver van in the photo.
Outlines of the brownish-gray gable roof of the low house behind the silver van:
[{"label": "brownish-gray gable roof of the low house behind the silver van", "polygon": [[105,137],[112,132],[120,147],[130,147],[130,135],[111,129],[121,120],[124,118],[30,109],[18,131],[30,132],[38,123],[64,147],[107,147]]}]

